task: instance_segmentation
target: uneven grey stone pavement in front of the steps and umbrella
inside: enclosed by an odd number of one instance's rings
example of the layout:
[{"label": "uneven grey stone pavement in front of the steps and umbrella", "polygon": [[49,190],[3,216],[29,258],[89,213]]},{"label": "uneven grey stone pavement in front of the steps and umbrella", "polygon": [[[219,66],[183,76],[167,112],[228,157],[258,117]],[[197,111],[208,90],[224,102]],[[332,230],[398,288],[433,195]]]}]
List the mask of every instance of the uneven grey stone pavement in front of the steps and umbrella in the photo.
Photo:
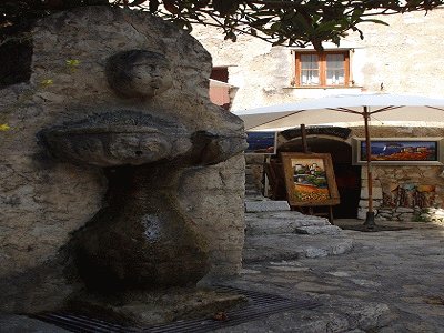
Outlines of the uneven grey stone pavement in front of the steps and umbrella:
[{"label": "uneven grey stone pavement in front of the steps and umbrella", "polygon": [[220,332],[444,332],[444,225],[402,225],[413,229],[343,231],[354,245],[340,255],[245,264],[232,285],[323,305]]}]

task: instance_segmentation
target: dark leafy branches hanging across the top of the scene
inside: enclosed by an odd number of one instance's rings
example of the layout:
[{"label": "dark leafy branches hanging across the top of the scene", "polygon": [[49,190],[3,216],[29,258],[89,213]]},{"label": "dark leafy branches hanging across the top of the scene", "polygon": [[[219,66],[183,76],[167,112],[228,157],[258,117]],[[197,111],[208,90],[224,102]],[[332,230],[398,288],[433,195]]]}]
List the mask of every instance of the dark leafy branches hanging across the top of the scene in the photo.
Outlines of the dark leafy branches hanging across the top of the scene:
[{"label": "dark leafy branches hanging across the top of the scene", "polygon": [[444,0],[1,0],[0,40],[37,18],[94,4],[145,10],[189,30],[195,23],[216,26],[233,41],[248,33],[274,44],[322,49],[323,41],[337,44],[350,30],[363,38],[359,23],[384,23],[377,16],[428,11]]}]

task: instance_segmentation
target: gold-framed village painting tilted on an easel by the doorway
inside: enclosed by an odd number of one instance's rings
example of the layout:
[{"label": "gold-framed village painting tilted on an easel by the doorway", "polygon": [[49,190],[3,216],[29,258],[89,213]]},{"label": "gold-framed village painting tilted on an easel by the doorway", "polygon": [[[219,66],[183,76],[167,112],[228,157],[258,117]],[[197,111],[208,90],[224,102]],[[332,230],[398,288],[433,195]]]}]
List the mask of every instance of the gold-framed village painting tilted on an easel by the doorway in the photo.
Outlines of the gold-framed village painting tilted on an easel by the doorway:
[{"label": "gold-framed village painting tilted on an easel by the doorway", "polygon": [[282,153],[281,158],[290,205],[335,205],[340,203],[330,154]]}]

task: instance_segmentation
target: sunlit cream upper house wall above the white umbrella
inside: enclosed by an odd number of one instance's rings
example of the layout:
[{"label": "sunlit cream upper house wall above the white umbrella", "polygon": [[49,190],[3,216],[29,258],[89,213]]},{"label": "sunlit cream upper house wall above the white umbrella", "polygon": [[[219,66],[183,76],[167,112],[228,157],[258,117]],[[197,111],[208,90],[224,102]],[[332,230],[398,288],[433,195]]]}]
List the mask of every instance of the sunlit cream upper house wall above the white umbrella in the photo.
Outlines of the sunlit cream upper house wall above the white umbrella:
[{"label": "sunlit cream upper house wall above the white umbrella", "polygon": [[228,83],[235,94],[231,110],[242,110],[346,93],[387,92],[428,97],[444,95],[440,57],[444,9],[387,16],[390,26],[362,23],[364,33],[350,32],[339,47],[324,43],[326,51],[347,50],[350,80],[346,87],[295,87],[294,52],[300,48],[272,47],[248,36],[224,41],[211,27],[194,27],[193,34],[211,53],[213,65],[226,67]]}]

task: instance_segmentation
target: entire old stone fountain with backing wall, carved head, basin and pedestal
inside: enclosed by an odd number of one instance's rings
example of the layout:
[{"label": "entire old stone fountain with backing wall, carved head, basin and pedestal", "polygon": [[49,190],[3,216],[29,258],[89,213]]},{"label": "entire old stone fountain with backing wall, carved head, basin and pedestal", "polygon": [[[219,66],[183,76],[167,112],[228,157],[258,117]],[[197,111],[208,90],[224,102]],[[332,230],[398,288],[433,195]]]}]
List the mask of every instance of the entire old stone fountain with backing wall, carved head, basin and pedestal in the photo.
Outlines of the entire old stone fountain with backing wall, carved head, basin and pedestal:
[{"label": "entire old stone fountain with backing wall, carved head, basin and pedestal", "polygon": [[29,81],[0,91],[0,309],[235,274],[245,139],[209,101],[203,48],[101,7],[46,18],[31,36]]}]

